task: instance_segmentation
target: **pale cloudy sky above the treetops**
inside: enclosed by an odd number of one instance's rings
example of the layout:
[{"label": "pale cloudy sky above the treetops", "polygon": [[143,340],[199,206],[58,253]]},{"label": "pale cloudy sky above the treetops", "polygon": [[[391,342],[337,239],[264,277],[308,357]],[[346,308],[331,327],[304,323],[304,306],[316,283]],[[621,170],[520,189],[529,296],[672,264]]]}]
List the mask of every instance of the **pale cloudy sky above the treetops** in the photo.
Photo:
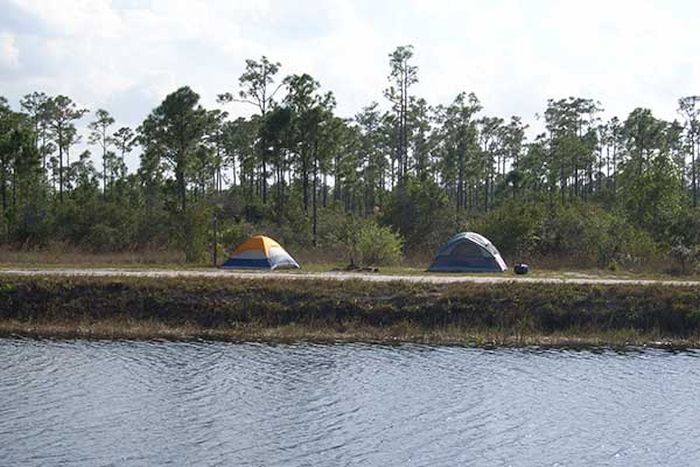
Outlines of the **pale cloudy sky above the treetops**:
[{"label": "pale cloudy sky above the treetops", "polygon": [[547,99],[577,96],[604,117],[671,120],[700,94],[698,18],[692,0],[0,0],[0,95],[17,108],[35,90],[65,94],[135,127],[183,85],[219,107],[245,59],[266,55],[351,117],[386,104],[388,54],[411,44],[412,91],[433,105],[474,92],[485,115],[536,128]]}]

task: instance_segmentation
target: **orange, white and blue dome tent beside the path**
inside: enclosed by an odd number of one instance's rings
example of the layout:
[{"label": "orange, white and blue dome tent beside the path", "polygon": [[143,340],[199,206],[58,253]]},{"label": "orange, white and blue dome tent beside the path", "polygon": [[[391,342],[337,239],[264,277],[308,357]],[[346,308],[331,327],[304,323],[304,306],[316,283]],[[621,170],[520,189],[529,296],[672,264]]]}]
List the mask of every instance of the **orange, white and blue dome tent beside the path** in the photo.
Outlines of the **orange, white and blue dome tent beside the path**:
[{"label": "orange, white and blue dome tent beside the path", "polygon": [[300,268],[299,263],[279,243],[264,235],[256,235],[240,244],[221,267],[273,270]]}]

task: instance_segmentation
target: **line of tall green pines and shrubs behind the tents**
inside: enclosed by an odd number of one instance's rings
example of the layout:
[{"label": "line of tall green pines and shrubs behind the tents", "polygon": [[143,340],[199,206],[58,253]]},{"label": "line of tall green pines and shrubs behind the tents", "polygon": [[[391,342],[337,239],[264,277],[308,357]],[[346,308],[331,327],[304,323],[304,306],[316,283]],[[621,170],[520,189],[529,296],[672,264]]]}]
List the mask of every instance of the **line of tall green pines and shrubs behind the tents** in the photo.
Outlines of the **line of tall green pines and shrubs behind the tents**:
[{"label": "line of tall green pines and shrubs behind the tents", "polygon": [[[32,92],[19,109],[0,98],[0,240],[175,245],[195,259],[216,215],[232,238],[266,229],[308,247],[332,243],[334,226],[371,219],[411,250],[470,225],[503,231],[524,206],[548,213],[510,239],[522,254],[561,209],[587,206],[661,249],[700,243],[699,96],[680,98],[674,121],[644,108],[603,120],[594,99],[550,99],[537,116],[544,131],[528,139],[521,117],[490,116],[473,93],[437,105],[415,95],[411,46],[388,58],[386,100],[351,118],[314,77],[283,76],[264,56],[246,60],[220,109],[182,87],[137,128],[63,95]],[[235,106],[252,114],[231,118]],[[91,149],[74,155],[82,138]],[[140,164],[129,172],[133,151]]]}]

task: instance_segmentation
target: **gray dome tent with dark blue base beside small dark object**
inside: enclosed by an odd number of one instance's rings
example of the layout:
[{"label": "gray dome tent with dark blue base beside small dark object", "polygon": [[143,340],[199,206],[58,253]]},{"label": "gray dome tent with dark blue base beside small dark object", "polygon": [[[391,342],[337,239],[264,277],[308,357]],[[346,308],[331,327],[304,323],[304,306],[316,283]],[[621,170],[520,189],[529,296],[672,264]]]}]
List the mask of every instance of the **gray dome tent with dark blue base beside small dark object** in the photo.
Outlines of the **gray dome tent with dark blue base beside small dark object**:
[{"label": "gray dome tent with dark blue base beside small dark object", "polygon": [[508,269],[493,243],[475,232],[451,237],[438,250],[432,272],[503,272]]}]

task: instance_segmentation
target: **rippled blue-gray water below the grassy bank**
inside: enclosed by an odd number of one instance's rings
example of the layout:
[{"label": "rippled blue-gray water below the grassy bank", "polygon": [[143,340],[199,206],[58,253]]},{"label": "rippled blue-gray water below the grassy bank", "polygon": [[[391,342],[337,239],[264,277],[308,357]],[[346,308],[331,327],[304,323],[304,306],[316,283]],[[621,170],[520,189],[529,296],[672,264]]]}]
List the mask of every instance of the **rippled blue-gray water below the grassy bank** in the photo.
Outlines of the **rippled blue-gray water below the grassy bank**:
[{"label": "rippled blue-gray water below the grassy bank", "polygon": [[699,356],[0,339],[0,465],[700,465]]}]

